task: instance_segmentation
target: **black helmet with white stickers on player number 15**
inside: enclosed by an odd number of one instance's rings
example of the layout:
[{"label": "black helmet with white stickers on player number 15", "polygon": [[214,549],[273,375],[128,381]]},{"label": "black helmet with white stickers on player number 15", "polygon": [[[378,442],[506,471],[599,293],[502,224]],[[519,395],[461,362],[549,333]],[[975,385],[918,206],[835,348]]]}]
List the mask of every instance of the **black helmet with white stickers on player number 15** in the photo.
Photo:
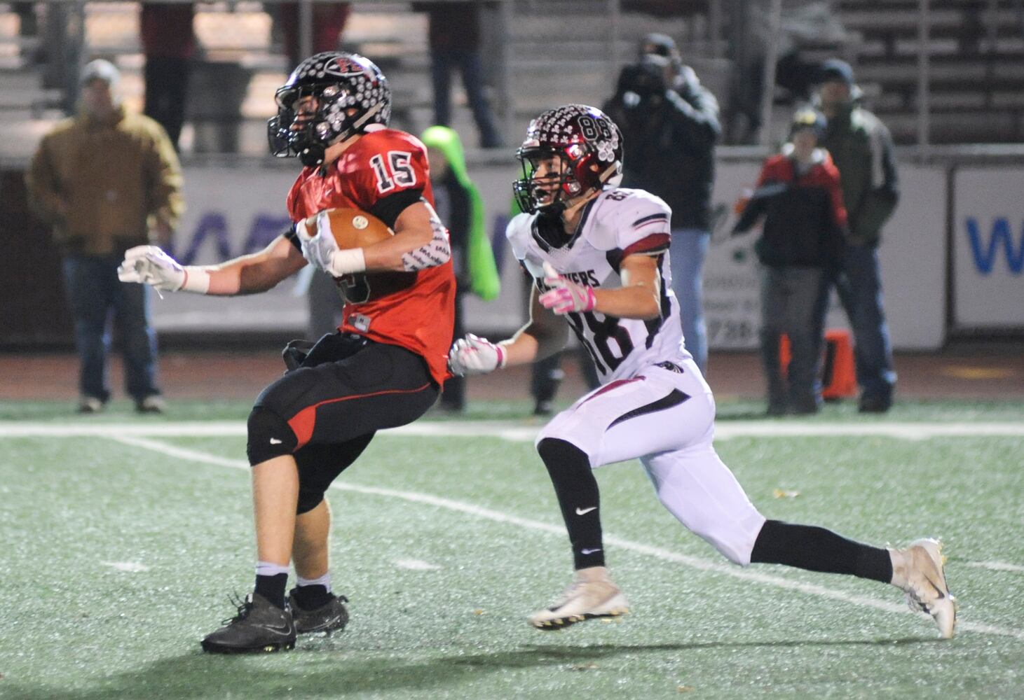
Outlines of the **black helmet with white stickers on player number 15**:
[{"label": "black helmet with white stickers on player number 15", "polygon": [[[304,97],[314,97],[300,108]],[[346,51],[325,51],[292,72],[274,94],[278,116],[267,122],[270,152],[298,156],[305,166],[324,162],[329,145],[371,124],[391,119],[391,88],[377,65]]]}]

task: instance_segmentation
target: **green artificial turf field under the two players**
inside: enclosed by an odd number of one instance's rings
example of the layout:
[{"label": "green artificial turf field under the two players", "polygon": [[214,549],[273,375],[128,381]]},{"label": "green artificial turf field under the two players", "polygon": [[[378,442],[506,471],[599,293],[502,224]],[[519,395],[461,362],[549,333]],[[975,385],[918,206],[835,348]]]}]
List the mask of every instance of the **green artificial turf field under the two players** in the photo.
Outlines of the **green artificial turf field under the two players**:
[{"label": "green artificial turf field under the two players", "polygon": [[[759,408],[720,406],[720,420]],[[717,444],[767,517],[877,544],[940,536],[961,600],[952,641],[928,618],[862,603],[901,604],[895,588],[727,564],[658,505],[635,462],[598,471],[617,542],[608,564],[633,612],[535,630],[526,617],[571,570],[564,533],[549,531],[560,516],[547,474],[528,440],[445,434],[445,419],[436,435],[380,435],[329,493],[349,627],[300,638],[290,653],[208,656],[199,640],[252,584],[244,436],[127,444],[62,431],[102,424],[116,436],[120,424],[247,412],[181,402],[136,417],[126,403],[72,417],[66,405],[0,404],[0,420],[52,427],[0,436],[0,698],[1024,696],[1024,437]],[[540,425],[525,412],[507,403],[471,417]],[[919,402],[882,421],[829,406],[807,423],[1022,419],[1019,403]]]}]

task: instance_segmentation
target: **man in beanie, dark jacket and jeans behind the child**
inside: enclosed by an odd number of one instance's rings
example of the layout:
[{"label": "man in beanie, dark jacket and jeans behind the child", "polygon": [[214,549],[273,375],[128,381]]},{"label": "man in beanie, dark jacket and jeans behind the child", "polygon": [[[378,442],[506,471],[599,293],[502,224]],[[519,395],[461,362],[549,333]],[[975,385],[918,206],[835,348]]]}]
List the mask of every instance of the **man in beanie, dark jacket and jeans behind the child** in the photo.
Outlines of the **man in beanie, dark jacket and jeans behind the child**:
[{"label": "man in beanie, dark jacket and jeans behind the child", "polygon": [[[859,409],[885,412],[896,386],[879,262],[882,227],[899,201],[892,137],[879,118],[860,105],[849,63],[824,61],[818,81],[816,101],[828,120],[820,145],[839,169],[850,223],[843,264],[831,281],[853,330]],[[828,293],[826,286],[823,295]]]}]

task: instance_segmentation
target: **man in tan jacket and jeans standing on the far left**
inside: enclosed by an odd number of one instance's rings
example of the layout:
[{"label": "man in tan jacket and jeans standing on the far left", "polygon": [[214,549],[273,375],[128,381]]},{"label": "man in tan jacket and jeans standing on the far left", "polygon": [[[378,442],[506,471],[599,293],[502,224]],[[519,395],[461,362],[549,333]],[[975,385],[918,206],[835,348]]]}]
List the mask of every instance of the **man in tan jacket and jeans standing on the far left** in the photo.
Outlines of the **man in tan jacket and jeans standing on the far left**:
[{"label": "man in tan jacket and jeans standing on the far left", "polygon": [[183,209],[181,169],[164,129],[125,110],[119,80],[109,61],[85,67],[79,115],[43,137],[26,175],[35,211],[53,225],[63,255],[84,413],[99,412],[111,396],[112,317],[121,329],[126,389],[136,410],[164,408],[147,288],[122,283],[117,268],[133,246],[170,243]]}]

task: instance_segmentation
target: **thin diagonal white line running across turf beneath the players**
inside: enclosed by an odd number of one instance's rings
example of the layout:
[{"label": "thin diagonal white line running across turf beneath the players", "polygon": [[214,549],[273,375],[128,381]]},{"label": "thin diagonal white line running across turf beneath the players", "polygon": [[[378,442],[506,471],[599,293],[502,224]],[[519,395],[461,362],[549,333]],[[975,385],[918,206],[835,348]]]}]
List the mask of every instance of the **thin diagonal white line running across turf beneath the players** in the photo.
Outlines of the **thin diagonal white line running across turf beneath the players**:
[{"label": "thin diagonal white line running across turf beneath the players", "polygon": [[[110,437],[110,439],[120,442],[122,444],[131,445],[134,447],[141,447],[143,449],[150,449],[156,452],[160,452],[166,456],[178,457],[181,460],[187,460],[189,462],[199,462],[209,465],[217,465],[219,467],[230,467],[233,469],[241,469],[245,471],[249,471],[250,469],[248,462],[243,462],[241,460],[228,460],[226,457],[217,456],[215,454],[208,454],[206,452],[200,452],[198,450],[188,449],[185,447],[176,447],[174,445],[168,445],[166,443],[158,442],[156,440],[148,440],[146,438],[117,436],[117,435],[111,435],[106,437]],[[465,513],[467,515],[475,516],[477,518],[493,520],[498,523],[518,525],[519,527],[529,530],[550,532],[552,534],[557,534],[562,537],[566,536],[565,528],[562,527],[561,525],[558,526],[550,525],[548,523],[542,523],[537,520],[519,518],[516,516],[501,513],[499,511],[492,511],[489,509],[480,508],[478,506],[473,506],[471,504],[465,504],[459,500],[452,500],[449,498],[441,498],[439,496],[434,496],[427,493],[417,493],[413,491],[398,491],[390,488],[378,488],[374,486],[359,486],[358,484],[349,484],[339,481],[335,481],[333,484],[331,484],[331,488],[336,488],[342,491],[354,491],[357,493],[381,495],[390,498],[400,498],[402,500],[408,500],[415,504],[425,504],[427,506],[443,508],[450,511],[456,511],[458,513]],[[856,596],[853,594],[843,593],[841,590],[834,590],[831,588],[815,585],[813,583],[802,583],[799,581],[792,581],[786,578],[782,578],[780,576],[773,576],[771,574],[762,574],[756,571],[752,571],[750,569],[741,569],[733,565],[725,565],[717,562],[710,562],[708,560],[699,559],[697,557],[677,554],[670,550],[664,550],[658,546],[642,544],[640,542],[634,542],[628,539],[621,539],[618,537],[605,536],[604,539],[609,544],[614,544],[615,546],[620,546],[624,550],[630,550],[632,552],[645,554],[650,557],[656,557],[657,559],[662,559],[668,562],[683,564],[685,566],[698,569],[700,571],[712,571],[715,573],[721,573],[727,576],[732,576],[734,578],[739,578],[745,581],[754,581],[756,583],[762,583],[764,585],[772,585],[779,588],[786,588],[790,590],[799,590],[801,593],[809,594],[812,596],[820,596],[822,598],[842,601],[844,603],[853,603],[854,605],[860,605],[867,608],[874,608],[877,610],[884,610],[886,612],[910,613],[910,611],[907,610],[907,607],[905,605],[897,605],[895,603],[887,603],[885,601],[879,601],[873,598],[867,598],[866,596]],[[928,615],[926,615],[925,613],[911,613],[911,614],[928,617]],[[929,618],[929,621],[931,621],[931,618]],[[983,624],[980,622],[965,622],[965,621],[957,621],[956,626],[961,631],[974,631],[986,635],[999,635],[1002,637],[1013,637],[1018,640],[1024,640],[1024,629],[1016,629],[1013,627],[1000,627],[991,624]]]}]

